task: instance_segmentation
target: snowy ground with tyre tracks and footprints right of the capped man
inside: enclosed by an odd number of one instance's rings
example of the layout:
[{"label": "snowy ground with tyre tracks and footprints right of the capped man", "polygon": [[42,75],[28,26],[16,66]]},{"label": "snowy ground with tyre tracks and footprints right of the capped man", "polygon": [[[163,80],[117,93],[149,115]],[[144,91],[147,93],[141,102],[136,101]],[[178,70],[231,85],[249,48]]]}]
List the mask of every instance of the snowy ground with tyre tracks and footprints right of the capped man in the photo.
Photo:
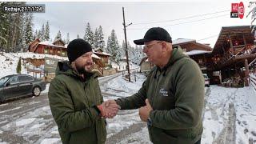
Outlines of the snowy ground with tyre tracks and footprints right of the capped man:
[{"label": "snowy ground with tyre tracks and footprints right of the capped man", "polygon": [[202,143],[246,144],[249,138],[256,140],[255,103],[256,94],[250,86],[210,86],[203,116]]}]

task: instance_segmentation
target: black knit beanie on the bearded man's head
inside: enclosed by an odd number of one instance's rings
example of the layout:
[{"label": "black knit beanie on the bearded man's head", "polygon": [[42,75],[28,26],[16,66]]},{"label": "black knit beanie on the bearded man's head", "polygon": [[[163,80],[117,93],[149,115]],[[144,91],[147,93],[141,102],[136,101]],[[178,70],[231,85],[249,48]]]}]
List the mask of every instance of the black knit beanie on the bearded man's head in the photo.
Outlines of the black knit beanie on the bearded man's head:
[{"label": "black knit beanie on the bearded man's head", "polygon": [[77,38],[71,41],[67,46],[67,57],[71,63],[82,54],[85,54],[89,51],[92,51],[90,43],[86,42],[82,38]]}]

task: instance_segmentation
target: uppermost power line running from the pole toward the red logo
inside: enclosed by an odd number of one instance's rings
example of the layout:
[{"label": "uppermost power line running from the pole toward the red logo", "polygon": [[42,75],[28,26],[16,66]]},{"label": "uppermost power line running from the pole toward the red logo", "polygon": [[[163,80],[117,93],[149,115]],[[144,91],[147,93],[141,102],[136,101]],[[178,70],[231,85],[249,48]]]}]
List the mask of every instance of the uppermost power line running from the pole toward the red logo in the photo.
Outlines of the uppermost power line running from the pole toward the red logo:
[{"label": "uppermost power line running from the pole toward the red logo", "polygon": [[226,11],[230,11],[230,10],[222,10],[222,11],[217,11],[217,12],[214,12],[214,13],[199,14],[199,15],[193,15],[193,16],[186,17],[186,18],[177,18],[177,19],[171,19],[171,20],[165,20],[165,21],[138,22],[138,23],[134,23],[133,25],[145,25],[145,24],[154,24],[154,23],[162,23],[162,22],[174,22],[174,21],[179,21],[179,20],[187,19],[187,18],[196,18],[196,17],[201,17],[201,16],[205,16],[205,15],[210,15],[210,14],[223,13],[223,12],[226,12]]}]

